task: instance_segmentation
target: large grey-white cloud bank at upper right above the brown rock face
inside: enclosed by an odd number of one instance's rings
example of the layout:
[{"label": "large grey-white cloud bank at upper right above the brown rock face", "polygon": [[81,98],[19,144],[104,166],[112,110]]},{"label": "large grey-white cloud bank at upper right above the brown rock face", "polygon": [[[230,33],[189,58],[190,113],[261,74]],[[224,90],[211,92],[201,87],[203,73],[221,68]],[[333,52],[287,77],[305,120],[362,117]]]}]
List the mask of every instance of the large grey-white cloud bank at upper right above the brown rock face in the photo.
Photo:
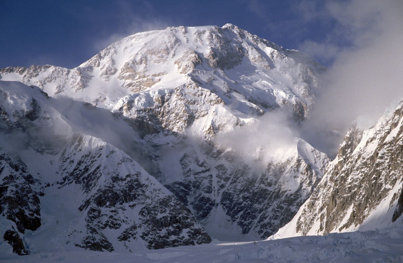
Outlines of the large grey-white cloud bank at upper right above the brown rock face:
[{"label": "large grey-white cloud bank at upper right above the brown rock face", "polygon": [[325,8],[337,25],[326,42],[309,43],[318,51],[312,55],[325,53],[334,62],[311,121],[345,132],[359,119],[366,129],[403,99],[403,2],[353,0]]}]

